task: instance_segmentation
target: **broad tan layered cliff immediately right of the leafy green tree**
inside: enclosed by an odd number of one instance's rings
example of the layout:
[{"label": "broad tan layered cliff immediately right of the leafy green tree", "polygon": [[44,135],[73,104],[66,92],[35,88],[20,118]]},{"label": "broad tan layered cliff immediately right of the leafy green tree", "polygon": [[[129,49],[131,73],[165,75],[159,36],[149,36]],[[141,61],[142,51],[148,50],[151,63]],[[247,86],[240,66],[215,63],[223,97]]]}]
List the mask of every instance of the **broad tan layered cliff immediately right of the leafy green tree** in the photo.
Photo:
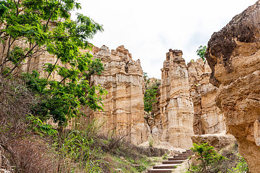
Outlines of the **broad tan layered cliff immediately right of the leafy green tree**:
[{"label": "broad tan layered cliff immediately right of the leafy green tree", "polygon": [[102,60],[104,72],[100,76],[91,76],[91,85],[101,85],[107,90],[107,95],[103,102],[105,111],[90,111],[91,118],[104,120],[104,131],[116,129],[117,132],[130,132],[132,143],[147,141],[140,60],[133,61],[124,46],[111,51],[106,46],[95,47],[92,53],[94,58]]}]

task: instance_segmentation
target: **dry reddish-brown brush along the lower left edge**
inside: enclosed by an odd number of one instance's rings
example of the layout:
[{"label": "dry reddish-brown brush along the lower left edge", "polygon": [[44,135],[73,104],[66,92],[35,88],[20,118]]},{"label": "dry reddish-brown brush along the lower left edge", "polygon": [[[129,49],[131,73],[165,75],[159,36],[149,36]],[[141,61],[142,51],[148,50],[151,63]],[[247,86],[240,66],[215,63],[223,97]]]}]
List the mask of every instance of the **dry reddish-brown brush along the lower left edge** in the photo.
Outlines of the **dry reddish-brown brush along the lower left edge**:
[{"label": "dry reddish-brown brush along the lower left edge", "polygon": [[29,131],[27,115],[37,103],[19,79],[0,79],[0,145],[16,173],[53,173],[55,155],[38,135]]}]

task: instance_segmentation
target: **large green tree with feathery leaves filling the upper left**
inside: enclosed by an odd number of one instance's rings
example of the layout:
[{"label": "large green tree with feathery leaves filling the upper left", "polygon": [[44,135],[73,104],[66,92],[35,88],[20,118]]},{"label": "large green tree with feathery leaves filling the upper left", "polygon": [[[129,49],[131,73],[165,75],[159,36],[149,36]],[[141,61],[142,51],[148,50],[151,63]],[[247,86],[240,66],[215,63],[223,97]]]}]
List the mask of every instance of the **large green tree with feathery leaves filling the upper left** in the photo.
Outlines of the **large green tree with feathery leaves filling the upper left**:
[{"label": "large green tree with feathery leaves filling the upper left", "polygon": [[[101,74],[103,64],[99,59],[92,60],[90,53],[80,51],[91,49],[88,39],[102,32],[103,27],[78,13],[76,21],[70,20],[69,12],[79,8],[77,0],[0,1],[0,41],[4,48],[0,54],[0,77],[12,77],[21,66],[43,52],[54,55],[55,63],[44,67],[48,77],[41,78],[33,71],[22,74],[22,79],[41,100],[34,105],[34,116],[52,117],[59,125],[82,115],[81,106],[103,110],[104,89],[89,84],[90,75]],[[50,80],[54,72],[60,81]]]}]

